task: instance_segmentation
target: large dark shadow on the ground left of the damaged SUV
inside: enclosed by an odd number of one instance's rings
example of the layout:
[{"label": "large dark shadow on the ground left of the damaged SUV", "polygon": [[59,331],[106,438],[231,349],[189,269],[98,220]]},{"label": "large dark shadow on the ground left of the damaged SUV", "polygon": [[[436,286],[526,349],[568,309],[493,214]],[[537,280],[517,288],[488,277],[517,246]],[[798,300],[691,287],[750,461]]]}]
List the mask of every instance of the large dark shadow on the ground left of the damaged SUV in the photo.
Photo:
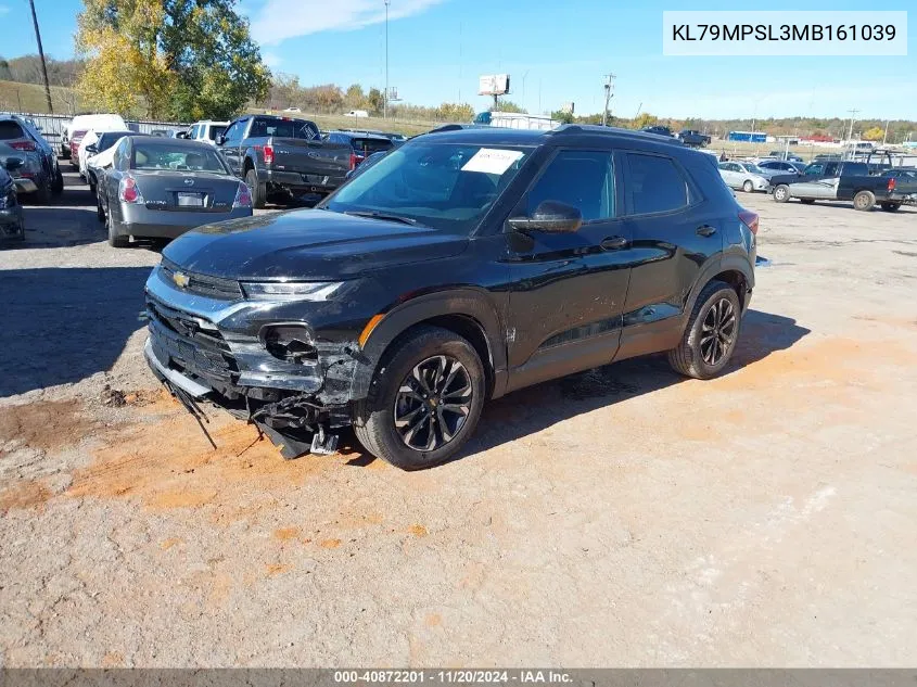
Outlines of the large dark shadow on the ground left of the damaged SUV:
[{"label": "large dark shadow on the ground left of the damaged SUV", "polygon": [[0,397],[107,371],[143,327],[150,267],[0,270]]}]

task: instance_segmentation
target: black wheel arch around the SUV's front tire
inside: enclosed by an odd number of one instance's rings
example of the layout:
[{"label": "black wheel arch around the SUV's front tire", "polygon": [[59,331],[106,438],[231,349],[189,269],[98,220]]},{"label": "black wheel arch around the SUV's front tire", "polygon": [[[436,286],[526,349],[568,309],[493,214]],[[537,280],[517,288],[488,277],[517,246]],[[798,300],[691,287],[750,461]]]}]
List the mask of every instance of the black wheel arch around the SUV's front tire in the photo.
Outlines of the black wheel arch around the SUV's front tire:
[{"label": "black wheel arch around the SUV's front tire", "polygon": [[502,327],[489,297],[475,289],[425,294],[382,314],[362,346],[351,390],[354,399],[365,398],[379,365],[407,332],[428,325],[441,327],[471,343],[487,376],[487,396],[501,396],[506,387],[506,345]]}]

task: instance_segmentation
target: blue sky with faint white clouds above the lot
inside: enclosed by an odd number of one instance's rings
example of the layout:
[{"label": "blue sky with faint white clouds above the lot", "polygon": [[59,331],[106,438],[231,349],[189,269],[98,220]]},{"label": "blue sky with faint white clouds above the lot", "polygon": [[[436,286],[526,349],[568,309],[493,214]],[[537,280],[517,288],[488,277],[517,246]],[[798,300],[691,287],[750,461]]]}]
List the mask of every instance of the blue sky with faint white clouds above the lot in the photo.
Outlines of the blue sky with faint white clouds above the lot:
[{"label": "blue sky with faint white clouds above the lot", "polygon": [[[46,51],[73,54],[79,0],[35,0]],[[832,10],[863,10],[832,0]],[[417,104],[487,106],[480,74],[512,75],[511,100],[530,112],[576,103],[601,110],[602,75],[617,75],[612,111],[673,117],[846,116],[917,119],[917,50],[896,58],[673,58],[662,55],[665,9],[738,10],[743,3],[661,0],[391,0],[390,84]],[[914,0],[884,0],[907,10]],[[774,0],[754,9],[824,10]],[[271,68],[304,85],[384,84],[383,0],[243,0]],[[908,20],[917,16],[910,13]],[[27,0],[0,0],[0,54],[35,52]],[[523,90],[524,84],[524,90]]]}]

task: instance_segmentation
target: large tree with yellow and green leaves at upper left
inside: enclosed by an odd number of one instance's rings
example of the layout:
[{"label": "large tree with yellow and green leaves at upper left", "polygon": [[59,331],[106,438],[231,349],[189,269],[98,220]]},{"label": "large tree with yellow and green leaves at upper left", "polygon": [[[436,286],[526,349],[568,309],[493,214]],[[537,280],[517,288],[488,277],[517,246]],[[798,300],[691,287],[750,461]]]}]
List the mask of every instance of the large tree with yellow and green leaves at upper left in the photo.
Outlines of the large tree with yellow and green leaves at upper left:
[{"label": "large tree with yellow and green leaves at upper left", "polygon": [[[122,90],[115,80],[126,78],[135,106],[144,105],[150,116],[229,118],[247,101],[266,98],[270,86],[270,72],[235,4],[84,0],[77,48],[91,62],[80,90],[91,102],[113,100],[107,92]],[[99,66],[105,68],[93,75]]]}]

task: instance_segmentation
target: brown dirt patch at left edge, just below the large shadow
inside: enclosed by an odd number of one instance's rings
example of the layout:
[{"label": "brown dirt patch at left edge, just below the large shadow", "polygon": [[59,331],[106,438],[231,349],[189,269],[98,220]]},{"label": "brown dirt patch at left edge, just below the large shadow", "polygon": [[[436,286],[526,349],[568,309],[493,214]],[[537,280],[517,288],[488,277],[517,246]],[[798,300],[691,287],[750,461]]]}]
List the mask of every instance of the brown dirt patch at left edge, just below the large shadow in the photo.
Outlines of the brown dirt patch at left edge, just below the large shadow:
[{"label": "brown dirt patch at left edge, just below the large shadow", "polygon": [[50,453],[75,446],[97,428],[78,398],[7,406],[0,412],[0,456],[10,441],[17,447]]}]

